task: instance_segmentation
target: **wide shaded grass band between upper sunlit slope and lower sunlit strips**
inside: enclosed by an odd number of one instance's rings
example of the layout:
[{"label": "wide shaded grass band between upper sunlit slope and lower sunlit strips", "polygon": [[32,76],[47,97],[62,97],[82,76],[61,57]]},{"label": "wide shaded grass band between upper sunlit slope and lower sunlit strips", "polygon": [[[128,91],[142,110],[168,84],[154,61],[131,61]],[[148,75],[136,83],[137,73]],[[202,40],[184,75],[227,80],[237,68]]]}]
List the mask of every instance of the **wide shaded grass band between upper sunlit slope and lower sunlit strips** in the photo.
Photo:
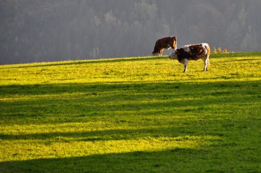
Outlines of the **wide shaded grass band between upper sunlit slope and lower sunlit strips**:
[{"label": "wide shaded grass band between upper sunlit slope and lower sunlit strips", "polygon": [[[232,113],[229,108],[223,109],[221,106],[255,106],[254,103],[261,97],[260,86],[261,82],[256,81],[2,86],[0,96],[11,99],[1,102],[0,119],[6,123],[14,119],[27,123],[26,119],[35,118],[44,123],[50,120],[44,120],[50,116],[58,122],[82,122],[89,117],[101,116],[106,119],[128,114]],[[16,100],[19,97],[21,99]],[[211,109],[215,105],[220,105],[220,109]]]}]

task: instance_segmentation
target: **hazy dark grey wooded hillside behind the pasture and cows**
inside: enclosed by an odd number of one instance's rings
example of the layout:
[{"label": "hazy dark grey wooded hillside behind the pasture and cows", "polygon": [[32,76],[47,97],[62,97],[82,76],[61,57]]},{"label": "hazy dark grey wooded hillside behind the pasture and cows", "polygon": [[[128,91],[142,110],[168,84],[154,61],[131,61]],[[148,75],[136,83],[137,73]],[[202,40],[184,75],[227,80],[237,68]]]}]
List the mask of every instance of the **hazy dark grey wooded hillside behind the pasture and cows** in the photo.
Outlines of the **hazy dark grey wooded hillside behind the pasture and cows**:
[{"label": "hazy dark grey wooded hillside behind the pasture and cows", "polygon": [[260,0],[0,0],[0,64],[148,56],[172,35],[178,47],[260,51],[260,9]]}]

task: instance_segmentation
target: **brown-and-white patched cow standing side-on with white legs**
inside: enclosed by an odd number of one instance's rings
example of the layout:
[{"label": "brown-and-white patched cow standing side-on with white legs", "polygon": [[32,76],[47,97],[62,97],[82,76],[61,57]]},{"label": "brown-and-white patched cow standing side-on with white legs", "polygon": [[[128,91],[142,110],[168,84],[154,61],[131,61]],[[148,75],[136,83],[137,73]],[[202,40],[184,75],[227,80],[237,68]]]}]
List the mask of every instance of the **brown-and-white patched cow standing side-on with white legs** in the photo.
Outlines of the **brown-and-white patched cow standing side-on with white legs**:
[{"label": "brown-and-white patched cow standing side-on with white legs", "polygon": [[200,43],[195,45],[184,45],[177,50],[172,50],[169,58],[172,60],[179,60],[179,62],[184,65],[184,73],[187,71],[189,60],[202,59],[204,62],[203,71],[207,71],[207,66],[209,65],[209,54],[209,45],[207,43]]}]

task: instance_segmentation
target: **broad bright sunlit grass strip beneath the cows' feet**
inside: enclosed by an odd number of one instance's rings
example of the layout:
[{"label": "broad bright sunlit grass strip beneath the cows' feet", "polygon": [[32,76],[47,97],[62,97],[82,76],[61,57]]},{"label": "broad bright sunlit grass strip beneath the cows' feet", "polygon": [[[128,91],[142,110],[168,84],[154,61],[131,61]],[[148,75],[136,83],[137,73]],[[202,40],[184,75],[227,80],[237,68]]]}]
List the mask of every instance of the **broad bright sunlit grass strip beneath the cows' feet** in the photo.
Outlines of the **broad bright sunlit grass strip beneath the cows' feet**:
[{"label": "broad bright sunlit grass strip beneath the cows' feet", "polygon": [[[251,56],[250,56],[251,55]],[[218,57],[218,58],[215,58]],[[236,64],[236,65],[235,65]],[[109,60],[81,60],[1,66],[2,84],[58,84],[93,82],[150,82],[166,80],[217,80],[256,79],[260,70],[260,54],[216,54],[210,58],[209,71],[202,73],[203,62],[189,63],[188,72],[183,66],[166,57],[140,57]],[[238,78],[240,77],[240,78]]]}]

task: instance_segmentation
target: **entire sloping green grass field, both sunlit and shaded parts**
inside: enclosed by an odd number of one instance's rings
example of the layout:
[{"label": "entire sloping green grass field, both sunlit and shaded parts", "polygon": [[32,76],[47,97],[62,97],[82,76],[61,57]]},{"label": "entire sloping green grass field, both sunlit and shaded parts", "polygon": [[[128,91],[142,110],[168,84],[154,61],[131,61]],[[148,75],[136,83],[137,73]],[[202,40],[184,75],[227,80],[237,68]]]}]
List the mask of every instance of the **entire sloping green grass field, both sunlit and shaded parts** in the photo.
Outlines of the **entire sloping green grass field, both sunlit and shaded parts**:
[{"label": "entire sloping green grass field, both sunlit and shaded parts", "polygon": [[0,66],[0,172],[261,172],[261,52]]}]

